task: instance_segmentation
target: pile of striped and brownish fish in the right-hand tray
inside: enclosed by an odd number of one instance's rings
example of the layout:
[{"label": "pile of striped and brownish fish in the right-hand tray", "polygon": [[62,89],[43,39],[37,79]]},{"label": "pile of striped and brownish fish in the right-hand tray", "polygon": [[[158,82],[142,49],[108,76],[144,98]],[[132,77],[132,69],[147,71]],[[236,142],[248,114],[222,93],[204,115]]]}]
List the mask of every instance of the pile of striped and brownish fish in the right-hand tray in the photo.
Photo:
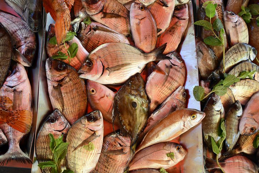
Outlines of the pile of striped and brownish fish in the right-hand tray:
[{"label": "pile of striped and brownish fish in the right-hand tray", "polygon": [[[200,1],[198,20],[210,18],[205,15]],[[203,103],[203,112],[206,114],[202,120],[205,169],[213,172],[219,168],[216,154],[212,151],[213,137],[215,142],[220,140],[219,128],[221,119],[225,119],[226,139],[222,152],[218,155],[219,165],[225,173],[258,173],[258,158],[253,142],[258,137],[259,130],[259,66],[258,57],[258,26],[256,19],[246,24],[243,18],[238,16],[241,6],[247,7],[249,1],[228,0],[226,7],[222,0],[216,0],[216,16],[212,22],[219,18],[224,25],[227,40],[225,43],[225,72],[229,75],[240,77],[241,72],[254,73],[242,79],[229,88],[224,96],[210,94]],[[250,1],[250,4],[259,4],[258,1]],[[257,17],[257,16],[256,16]],[[255,17],[255,18],[256,18]],[[218,34],[218,33],[217,33]],[[200,73],[200,85],[205,94],[211,92],[213,86],[224,79],[223,50],[221,46],[210,46],[203,42],[208,36],[214,36],[212,31],[200,30],[200,37],[196,39],[198,68]],[[257,64],[256,64],[257,63]],[[256,164],[257,163],[257,164]]]}]

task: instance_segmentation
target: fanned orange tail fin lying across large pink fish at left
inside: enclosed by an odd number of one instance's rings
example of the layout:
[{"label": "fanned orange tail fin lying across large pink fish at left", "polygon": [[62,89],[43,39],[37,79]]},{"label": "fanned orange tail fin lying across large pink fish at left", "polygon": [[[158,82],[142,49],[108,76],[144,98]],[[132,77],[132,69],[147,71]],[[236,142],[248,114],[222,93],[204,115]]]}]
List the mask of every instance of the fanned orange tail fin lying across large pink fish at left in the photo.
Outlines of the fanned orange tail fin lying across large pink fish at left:
[{"label": "fanned orange tail fin lying across large pink fish at left", "polygon": [[7,125],[22,133],[30,132],[32,123],[31,111],[17,110],[11,112],[12,114],[6,122]]}]

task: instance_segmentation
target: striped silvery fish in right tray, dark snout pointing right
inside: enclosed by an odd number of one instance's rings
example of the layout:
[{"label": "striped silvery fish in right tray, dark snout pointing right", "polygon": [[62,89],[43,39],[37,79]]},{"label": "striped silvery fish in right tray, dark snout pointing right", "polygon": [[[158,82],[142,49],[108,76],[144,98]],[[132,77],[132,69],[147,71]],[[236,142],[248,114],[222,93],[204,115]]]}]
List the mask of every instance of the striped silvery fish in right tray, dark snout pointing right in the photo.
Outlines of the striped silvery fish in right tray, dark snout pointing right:
[{"label": "striped silvery fish in right tray, dark snout pointing right", "polygon": [[[225,72],[229,72],[233,66],[242,61],[253,61],[257,50],[246,43],[237,43],[232,46],[225,54]],[[223,60],[220,62],[219,69],[223,71]]]}]

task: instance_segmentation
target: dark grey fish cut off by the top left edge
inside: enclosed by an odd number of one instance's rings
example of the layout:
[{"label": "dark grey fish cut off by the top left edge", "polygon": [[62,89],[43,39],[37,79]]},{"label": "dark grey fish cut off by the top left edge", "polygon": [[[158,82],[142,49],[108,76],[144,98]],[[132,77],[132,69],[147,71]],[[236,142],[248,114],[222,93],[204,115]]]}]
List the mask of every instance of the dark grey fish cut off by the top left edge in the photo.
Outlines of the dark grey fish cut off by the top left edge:
[{"label": "dark grey fish cut off by the top left edge", "polygon": [[41,24],[41,1],[5,0],[27,23],[33,32],[38,32]]}]

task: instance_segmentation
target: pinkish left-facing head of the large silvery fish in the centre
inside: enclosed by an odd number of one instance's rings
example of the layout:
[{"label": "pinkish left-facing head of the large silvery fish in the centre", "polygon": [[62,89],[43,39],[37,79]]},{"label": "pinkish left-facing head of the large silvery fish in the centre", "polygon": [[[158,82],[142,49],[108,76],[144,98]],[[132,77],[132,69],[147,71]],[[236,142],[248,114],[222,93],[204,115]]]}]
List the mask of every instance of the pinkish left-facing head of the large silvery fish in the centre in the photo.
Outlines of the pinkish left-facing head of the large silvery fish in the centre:
[{"label": "pinkish left-facing head of the large silvery fish in the centre", "polygon": [[81,78],[96,80],[102,75],[104,71],[104,65],[102,64],[102,61],[99,58],[91,59],[89,58],[90,56],[91,54],[88,55],[88,58],[82,64],[78,73],[81,73],[79,75],[79,77]]}]

